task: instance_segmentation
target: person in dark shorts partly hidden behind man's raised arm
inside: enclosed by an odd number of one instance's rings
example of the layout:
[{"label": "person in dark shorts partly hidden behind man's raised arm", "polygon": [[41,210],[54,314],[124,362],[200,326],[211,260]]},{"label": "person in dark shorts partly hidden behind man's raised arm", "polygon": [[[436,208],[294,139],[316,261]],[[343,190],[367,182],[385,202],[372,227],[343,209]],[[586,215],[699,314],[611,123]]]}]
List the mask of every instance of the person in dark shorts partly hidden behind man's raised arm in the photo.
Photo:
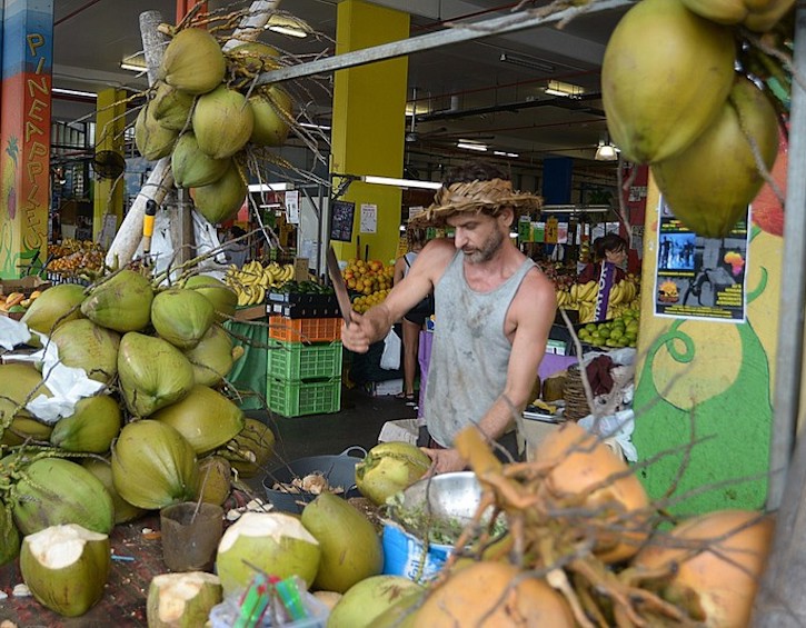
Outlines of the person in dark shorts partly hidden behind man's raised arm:
[{"label": "person in dark shorts partly hidden behind man's raised arm", "polygon": [[[426,245],[427,231],[417,227],[406,229],[408,252],[395,261],[392,286],[397,286],[409,273],[417,255]],[[415,376],[417,375],[417,353],[420,348],[420,330],[426,319],[434,313],[434,299],[428,295],[402,317],[402,346],[404,346],[404,389],[398,395],[406,399],[407,406],[415,406]]]}]

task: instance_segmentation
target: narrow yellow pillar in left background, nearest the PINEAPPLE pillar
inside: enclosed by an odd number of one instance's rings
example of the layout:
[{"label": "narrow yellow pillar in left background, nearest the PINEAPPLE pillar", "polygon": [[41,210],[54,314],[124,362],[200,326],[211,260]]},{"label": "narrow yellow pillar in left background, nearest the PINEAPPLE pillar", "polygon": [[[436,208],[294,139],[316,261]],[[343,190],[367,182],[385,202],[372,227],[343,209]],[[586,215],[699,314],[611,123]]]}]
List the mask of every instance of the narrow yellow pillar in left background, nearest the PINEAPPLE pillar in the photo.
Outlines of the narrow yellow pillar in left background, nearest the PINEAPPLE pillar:
[{"label": "narrow yellow pillar in left background, nearest the PINEAPPLE pillar", "polygon": [[[126,130],[126,92],[105,89],[98,93],[96,111],[96,154],[113,151],[123,156],[123,132]],[[103,217],[115,216],[116,230],[123,220],[123,176],[117,178],[96,175],[92,211],[92,239],[103,229]]]}]

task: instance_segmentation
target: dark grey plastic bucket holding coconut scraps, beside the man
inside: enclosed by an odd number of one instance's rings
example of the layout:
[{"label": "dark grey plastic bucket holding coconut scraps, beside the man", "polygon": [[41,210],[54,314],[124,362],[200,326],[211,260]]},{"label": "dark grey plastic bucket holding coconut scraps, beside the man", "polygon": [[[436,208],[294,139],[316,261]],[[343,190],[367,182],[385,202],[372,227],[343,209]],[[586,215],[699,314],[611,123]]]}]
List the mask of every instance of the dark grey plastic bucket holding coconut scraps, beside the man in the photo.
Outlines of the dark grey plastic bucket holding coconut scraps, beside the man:
[{"label": "dark grey plastic bucket holding coconut scraps, beside the man", "polygon": [[[351,456],[359,452],[361,456]],[[311,456],[300,458],[282,467],[269,471],[263,478],[266,498],[276,510],[282,512],[301,512],[305,505],[316,499],[310,492],[285,492],[271,487],[275,482],[290,484],[295,478],[304,478],[309,474],[321,474],[331,487],[341,487],[341,497],[359,496],[356,488],[356,465],[362,460],[367,451],[362,447],[349,447],[338,456]]]}]

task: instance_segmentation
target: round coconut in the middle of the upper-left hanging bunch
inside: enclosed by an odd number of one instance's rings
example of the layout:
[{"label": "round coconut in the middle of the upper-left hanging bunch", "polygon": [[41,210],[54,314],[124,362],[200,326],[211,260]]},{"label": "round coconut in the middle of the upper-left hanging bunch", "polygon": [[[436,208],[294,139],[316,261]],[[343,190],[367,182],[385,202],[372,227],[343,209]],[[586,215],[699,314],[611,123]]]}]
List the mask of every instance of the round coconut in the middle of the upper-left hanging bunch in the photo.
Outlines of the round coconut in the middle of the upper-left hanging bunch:
[{"label": "round coconut in the middle of the upper-left hanging bunch", "polygon": [[199,148],[215,159],[232,157],[242,149],[255,126],[246,97],[221,84],[199,97],[193,108],[193,132]]}]

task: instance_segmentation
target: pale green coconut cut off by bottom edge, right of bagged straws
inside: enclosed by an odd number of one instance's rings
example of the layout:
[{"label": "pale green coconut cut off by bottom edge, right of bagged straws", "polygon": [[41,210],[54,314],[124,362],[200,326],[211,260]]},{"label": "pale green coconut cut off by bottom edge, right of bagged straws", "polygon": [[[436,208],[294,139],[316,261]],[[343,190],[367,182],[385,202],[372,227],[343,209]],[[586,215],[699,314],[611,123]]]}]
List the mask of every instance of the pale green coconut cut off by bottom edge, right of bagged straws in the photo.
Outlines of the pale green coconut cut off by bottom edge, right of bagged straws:
[{"label": "pale green coconut cut off by bottom edge, right of bagged straws", "polygon": [[336,604],[328,628],[365,628],[404,598],[422,595],[424,588],[402,576],[372,576],[354,585]]}]

